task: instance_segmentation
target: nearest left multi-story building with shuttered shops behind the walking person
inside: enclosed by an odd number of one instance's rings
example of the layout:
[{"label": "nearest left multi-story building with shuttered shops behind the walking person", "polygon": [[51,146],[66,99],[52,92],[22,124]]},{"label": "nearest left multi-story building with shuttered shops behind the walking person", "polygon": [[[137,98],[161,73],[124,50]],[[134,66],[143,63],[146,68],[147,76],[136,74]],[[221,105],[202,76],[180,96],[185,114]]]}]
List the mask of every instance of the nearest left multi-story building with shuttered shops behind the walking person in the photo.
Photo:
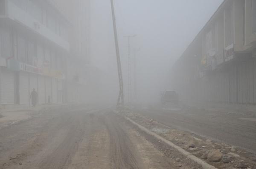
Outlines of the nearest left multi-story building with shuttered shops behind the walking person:
[{"label": "nearest left multi-story building with shuttered shops behind the walking person", "polygon": [[65,100],[71,26],[47,0],[0,0],[1,104]]}]

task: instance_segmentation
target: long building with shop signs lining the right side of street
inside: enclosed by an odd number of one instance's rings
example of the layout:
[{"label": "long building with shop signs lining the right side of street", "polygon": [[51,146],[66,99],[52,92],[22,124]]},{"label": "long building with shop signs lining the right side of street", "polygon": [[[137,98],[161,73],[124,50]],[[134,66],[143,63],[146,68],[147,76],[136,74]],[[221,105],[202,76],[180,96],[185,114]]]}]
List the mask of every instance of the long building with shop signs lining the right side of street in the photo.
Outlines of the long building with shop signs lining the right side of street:
[{"label": "long building with shop signs lining the right side of street", "polygon": [[224,0],[171,77],[184,100],[256,104],[256,1]]}]

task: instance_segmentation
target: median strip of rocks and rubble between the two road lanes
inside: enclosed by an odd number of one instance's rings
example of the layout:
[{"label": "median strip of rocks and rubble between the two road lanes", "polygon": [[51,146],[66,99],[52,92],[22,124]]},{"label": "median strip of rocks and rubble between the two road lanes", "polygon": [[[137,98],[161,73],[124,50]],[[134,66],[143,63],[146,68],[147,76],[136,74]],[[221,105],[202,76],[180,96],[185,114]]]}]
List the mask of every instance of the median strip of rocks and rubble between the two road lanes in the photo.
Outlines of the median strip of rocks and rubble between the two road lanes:
[{"label": "median strip of rocks and rubble between the two road lanes", "polygon": [[138,113],[126,112],[125,115],[216,168],[256,169],[256,156],[250,152],[208,138],[202,138],[191,132],[167,127]]}]

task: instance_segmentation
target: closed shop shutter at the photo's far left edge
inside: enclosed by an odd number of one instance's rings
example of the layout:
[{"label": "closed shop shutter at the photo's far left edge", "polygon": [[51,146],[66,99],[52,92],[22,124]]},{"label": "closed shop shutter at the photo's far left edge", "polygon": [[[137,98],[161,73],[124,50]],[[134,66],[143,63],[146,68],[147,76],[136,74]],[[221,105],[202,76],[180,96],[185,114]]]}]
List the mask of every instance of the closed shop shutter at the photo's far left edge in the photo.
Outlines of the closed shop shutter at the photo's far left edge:
[{"label": "closed shop shutter at the photo's far left edge", "polygon": [[1,104],[14,104],[14,75],[12,72],[1,71]]}]

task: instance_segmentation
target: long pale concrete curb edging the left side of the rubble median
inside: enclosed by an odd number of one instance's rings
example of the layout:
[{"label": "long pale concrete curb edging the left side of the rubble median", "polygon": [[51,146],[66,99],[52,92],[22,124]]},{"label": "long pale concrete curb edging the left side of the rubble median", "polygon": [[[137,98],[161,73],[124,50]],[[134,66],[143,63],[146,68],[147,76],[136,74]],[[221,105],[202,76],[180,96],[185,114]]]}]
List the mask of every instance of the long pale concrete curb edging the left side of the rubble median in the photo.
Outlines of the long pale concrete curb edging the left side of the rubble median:
[{"label": "long pale concrete curb edging the left side of the rubble median", "polygon": [[154,136],[155,138],[163,141],[164,143],[168,144],[169,146],[172,146],[174,149],[176,149],[177,151],[179,151],[181,154],[183,154],[185,157],[191,159],[192,161],[194,161],[195,163],[198,163],[199,165],[201,165],[204,169],[217,169],[214,166],[208,164],[207,162],[201,160],[200,158],[196,157],[195,155],[192,155],[190,152],[187,152],[186,150],[184,150],[183,148],[173,144],[171,141],[166,140],[165,138],[161,137],[160,135],[157,135],[154,132],[151,132],[150,130],[146,129],[145,127],[141,126],[140,124],[137,124],[135,121],[131,120],[128,117],[125,117],[125,119],[127,119],[128,121],[130,121],[132,124],[134,124],[135,126],[139,127],[140,130],[146,132],[149,135]]}]

